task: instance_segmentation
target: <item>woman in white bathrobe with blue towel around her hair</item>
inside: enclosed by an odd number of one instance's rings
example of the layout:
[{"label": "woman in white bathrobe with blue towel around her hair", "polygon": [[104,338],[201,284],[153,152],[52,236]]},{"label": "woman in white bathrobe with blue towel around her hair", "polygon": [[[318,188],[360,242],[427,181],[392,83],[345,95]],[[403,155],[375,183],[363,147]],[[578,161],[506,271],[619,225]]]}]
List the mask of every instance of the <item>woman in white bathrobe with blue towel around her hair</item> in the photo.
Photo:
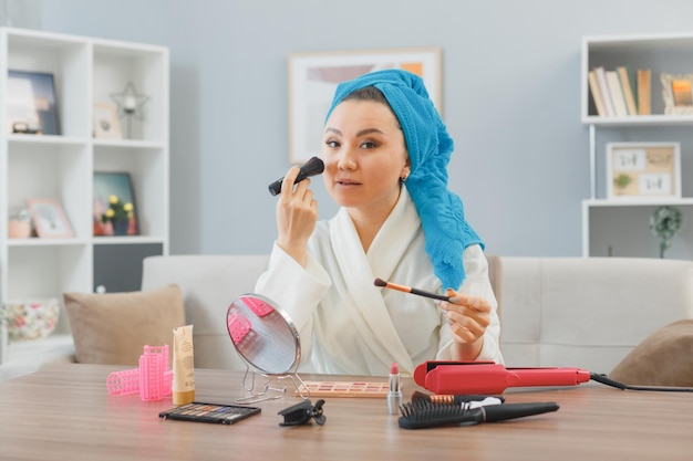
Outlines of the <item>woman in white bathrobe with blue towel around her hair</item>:
[{"label": "woman in white bathrobe with blue towel around her hair", "polygon": [[[423,81],[386,70],[338,86],[328,113],[323,180],[340,210],[318,221],[310,179],[285,177],[278,238],[256,291],[301,337],[301,370],[403,374],[432,359],[503,363],[483,243],[447,190],[453,151]],[[434,301],[375,279],[444,292]]]}]

